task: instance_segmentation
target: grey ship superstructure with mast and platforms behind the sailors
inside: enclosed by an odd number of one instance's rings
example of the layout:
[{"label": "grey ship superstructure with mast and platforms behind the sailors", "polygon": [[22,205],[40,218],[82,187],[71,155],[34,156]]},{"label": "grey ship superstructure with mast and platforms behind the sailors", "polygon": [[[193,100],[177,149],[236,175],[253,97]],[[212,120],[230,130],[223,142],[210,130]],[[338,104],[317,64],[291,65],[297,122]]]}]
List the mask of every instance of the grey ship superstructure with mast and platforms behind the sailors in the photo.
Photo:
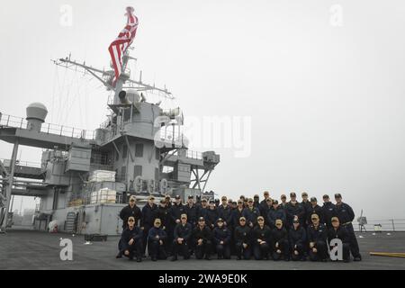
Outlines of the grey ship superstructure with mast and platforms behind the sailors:
[{"label": "grey ship superstructure with mast and platforms behind the sailors", "polygon": [[[14,144],[10,159],[0,161],[0,220],[5,229],[12,195],[40,197],[37,229],[58,221],[58,230],[75,233],[121,232],[119,211],[135,194],[140,205],[149,194],[201,197],[211,171],[220,162],[213,151],[188,149],[181,110],[150,103],[145,91],[174,98],[130,77],[127,52],[122,73],[112,85],[113,71],[79,64],[68,58],[58,66],[84,69],[110,90],[110,115],[96,130],[78,130],[46,122],[48,110],[31,103],[26,118],[0,113],[0,139]],[[40,165],[17,161],[20,145],[42,148]],[[212,197],[211,193],[207,196]]]}]

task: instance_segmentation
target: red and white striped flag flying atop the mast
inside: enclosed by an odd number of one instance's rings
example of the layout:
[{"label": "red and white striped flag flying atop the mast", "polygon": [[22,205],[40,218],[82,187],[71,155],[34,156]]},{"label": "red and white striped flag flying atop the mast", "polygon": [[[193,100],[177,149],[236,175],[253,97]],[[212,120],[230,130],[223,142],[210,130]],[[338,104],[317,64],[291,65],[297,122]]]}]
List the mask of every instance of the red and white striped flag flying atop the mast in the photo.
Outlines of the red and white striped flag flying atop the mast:
[{"label": "red and white striped flag flying atop the mast", "polygon": [[130,44],[132,44],[138,28],[138,18],[135,16],[135,14],[133,14],[133,7],[127,7],[126,11],[127,13],[125,15],[128,16],[127,25],[120,32],[120,34],[118,34],[117,39],[112,41],[110,47],[108,48],[112,58],[112,67],[114,68],[115,72],[115,76],[112,79],[113,86],[115,86],[115,83],[121,74],[122,57],[124,52],[128,47],[130,47]]}]

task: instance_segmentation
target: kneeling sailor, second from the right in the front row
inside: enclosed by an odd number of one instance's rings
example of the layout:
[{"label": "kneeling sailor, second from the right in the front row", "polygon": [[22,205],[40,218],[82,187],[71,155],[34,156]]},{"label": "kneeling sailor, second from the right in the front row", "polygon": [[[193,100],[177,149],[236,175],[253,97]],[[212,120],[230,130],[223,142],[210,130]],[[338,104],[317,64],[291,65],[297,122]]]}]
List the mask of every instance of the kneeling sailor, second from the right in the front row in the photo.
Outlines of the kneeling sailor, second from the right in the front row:
[{"label": "kneeling sailor, second from the right in the front row", "polygon": [[318,216],[318,214],[312,214],[311,221],[312,223],[307,231],[308,241],[310,243],[310,259],[311,261],[326,262],[328,261],[328,230],[324,224],[320,223],[320,216]]}]

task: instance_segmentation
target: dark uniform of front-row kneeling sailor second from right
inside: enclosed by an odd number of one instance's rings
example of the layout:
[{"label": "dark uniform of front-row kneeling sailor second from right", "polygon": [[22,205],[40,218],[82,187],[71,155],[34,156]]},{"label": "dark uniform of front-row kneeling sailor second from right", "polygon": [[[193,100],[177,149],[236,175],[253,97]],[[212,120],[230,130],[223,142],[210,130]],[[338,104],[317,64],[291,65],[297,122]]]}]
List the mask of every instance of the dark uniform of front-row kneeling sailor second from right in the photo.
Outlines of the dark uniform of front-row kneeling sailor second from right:
[{"label": "dark uniform of front-row kneeling sailor second from right", "polygon": [[312,251],[310,247],[310,258],[311,261],[318,261],[324,260],[328,257],[328,247],[327,247],[327,238],[328,238],[328,230],[325,225],[321,224],[318,227],[315,227],[311,224],[308,227],[307,231],[308,235],[308,242],[314,242],[317,248],[317,253]]}]

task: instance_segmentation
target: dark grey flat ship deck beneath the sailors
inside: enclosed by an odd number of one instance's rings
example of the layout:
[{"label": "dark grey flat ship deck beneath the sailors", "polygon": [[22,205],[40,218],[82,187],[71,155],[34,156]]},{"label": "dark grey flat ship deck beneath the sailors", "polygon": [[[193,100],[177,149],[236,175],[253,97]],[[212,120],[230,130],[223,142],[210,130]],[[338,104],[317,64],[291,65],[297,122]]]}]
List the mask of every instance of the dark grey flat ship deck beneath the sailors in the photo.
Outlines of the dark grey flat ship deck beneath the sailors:
[{"label": "dark grey flat ship deck beneath the sailors", "polygon": [[[374,257],[369,252],[405,252],[405,232],[363,233],[357,238],[363,255],[362,262],[350,263],[312,263],[236,261],[231,260],[196,260],[177,262],[168,260],[152,262],[149,258],[137,263],[126,258],[116,259],[118,237],[109,237],[106,242],[93,242],[85,245],[84,236],[69,234],[49,234],[45,232],[12,229],[7,234],[0,234],[0,269],[225,269],[225,270],[263,270],[263,269],[405,269],[405,258]],[[70,238],[73,242],[73,261],[61,261],[59,253],[60,238]]]}]

